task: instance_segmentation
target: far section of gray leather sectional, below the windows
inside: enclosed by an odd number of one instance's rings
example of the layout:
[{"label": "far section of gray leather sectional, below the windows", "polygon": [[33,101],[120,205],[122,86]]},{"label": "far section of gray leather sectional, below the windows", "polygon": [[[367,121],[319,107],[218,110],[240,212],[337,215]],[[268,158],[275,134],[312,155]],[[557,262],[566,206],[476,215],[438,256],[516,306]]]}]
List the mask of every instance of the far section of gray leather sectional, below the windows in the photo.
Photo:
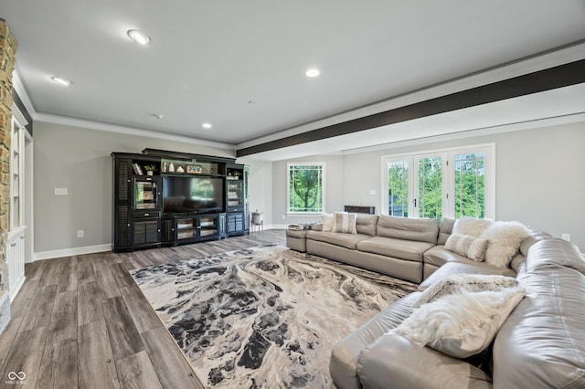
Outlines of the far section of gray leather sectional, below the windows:
[{"label": "far section of gray leather sectional, below the windows", "polygon": [[[360,215],[357,234],[311,229],[287,230],[286,244],[294,250],[378,271],[388,276],[420,283],[447,262],[484,267],[490,274],[515,276],[514,268],[494,268],[446,250],[455,220],[417,219],[395,216]],[[536,233],[533,239],[548,237]],[[519,260],[521,258],[516,259]]]}]

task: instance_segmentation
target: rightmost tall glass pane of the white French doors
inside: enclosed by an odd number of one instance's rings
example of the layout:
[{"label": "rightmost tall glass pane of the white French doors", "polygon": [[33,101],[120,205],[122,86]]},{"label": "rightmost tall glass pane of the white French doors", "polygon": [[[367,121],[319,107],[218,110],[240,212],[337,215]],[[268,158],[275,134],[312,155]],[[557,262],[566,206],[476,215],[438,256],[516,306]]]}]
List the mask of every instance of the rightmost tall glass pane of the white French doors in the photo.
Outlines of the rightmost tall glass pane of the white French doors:
[{"label": "rightmost tall glass pane of the white French doors", "polygon": [[485,216],[484,153],[455,155],[455,217]]}]

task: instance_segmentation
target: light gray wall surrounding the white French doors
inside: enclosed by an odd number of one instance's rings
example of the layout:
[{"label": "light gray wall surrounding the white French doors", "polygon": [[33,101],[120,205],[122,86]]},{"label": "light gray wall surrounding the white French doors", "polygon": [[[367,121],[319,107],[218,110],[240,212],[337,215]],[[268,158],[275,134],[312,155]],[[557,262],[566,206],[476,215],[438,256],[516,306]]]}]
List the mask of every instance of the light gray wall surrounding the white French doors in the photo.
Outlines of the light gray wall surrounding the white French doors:
[{"label": "light gray wall surrounding the white French doors", "polygon": [[[380,211],[383,155],[488,142],[495,142],[495,218],[517,220],[556,237],[569,233],[571,241],[584,251],[585,122],[346,154],[339,167],[345,180],[340,190],[335,188],[339,206],[329,210],[363,204],[376,205]],[[335,167],[328,164],[327,173],[332,170]],[[275,188],[275,198],[285,196],[285,186],[280,191]],[[369,195],[370,189],[376,195]]]}]

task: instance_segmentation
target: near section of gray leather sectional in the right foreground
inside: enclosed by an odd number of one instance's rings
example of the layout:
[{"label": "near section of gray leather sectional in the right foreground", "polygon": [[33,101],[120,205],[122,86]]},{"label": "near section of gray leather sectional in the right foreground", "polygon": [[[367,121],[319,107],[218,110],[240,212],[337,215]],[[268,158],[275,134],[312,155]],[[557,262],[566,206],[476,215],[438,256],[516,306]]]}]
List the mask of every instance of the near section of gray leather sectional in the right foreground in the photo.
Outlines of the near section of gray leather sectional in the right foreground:
[{"label": "near section of gray leather sectional in the right foreground", "polygon": [[[434,279],[381,311],[335,346],[335,386],[358,388],[585,387],[585,260],[577,247],[551,238],[527,245],[518,263],[526,297],[505,319],[485,352],[455,358],[396,333]],[[481,272],[481,269],[478,273]],[[431,325],[431,323],[430,323]]]}]

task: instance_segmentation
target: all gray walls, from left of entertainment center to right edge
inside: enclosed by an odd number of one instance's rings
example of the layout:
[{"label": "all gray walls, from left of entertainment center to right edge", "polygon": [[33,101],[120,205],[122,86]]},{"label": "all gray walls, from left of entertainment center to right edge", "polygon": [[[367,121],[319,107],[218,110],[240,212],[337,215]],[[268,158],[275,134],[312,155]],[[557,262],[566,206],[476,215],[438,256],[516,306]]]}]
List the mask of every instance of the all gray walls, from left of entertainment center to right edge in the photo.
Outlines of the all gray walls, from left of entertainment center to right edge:
[{"label": "all gray walls, from left of entertainment center to right edge", "polygon": [[[496,218],[518,220],[585,247],[585,122],[513,131],[449,142],[388,147],[375,152],[314,155],[294,162],[326,163],[326,210],[343,205],[381,206],[381,157],[446,147],[495,142]],[[106,131],[35,123],[35,252],[112,243],[111,152],[146,147],[232,157],[231,150],[161,141]],[[286,163],[239,159],[250,165],[250,210],[264,214],[264,226],[286,226],[318,217],[286,214]],[[69,195],[56,196],[56,187]],[[376,191],[370,195],[369,191]],[[78,229],[85,237],[78,238]]]}]

